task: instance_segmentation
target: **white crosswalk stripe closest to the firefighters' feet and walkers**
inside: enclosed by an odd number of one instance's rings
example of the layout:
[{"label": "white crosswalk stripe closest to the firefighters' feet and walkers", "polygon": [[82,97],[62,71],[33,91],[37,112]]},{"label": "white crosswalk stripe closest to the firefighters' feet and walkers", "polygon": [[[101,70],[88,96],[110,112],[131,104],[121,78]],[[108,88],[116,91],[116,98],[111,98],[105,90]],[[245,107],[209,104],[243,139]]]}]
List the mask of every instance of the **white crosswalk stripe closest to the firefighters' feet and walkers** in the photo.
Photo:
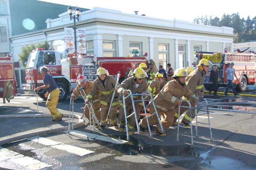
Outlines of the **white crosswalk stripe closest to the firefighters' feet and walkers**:
[{"label": "white crosswalk stripe closest to the firefighters' feet and walkers", "polygon": [[[65,131],[65,132],[68,132],[68,131]],[[72,134],[72,135],[79,135],[79,136],[89,137],[91,139],[103,140],[103,141],[111,142],[111,143],[114,143],[114,144],[124,144],[124,143],[128,142],[126,140],[115,139],[115,138],[108,137],[108,136],[95,135],[95,134],[76,131],[76,130],[70,131],[69,133]]]}]

